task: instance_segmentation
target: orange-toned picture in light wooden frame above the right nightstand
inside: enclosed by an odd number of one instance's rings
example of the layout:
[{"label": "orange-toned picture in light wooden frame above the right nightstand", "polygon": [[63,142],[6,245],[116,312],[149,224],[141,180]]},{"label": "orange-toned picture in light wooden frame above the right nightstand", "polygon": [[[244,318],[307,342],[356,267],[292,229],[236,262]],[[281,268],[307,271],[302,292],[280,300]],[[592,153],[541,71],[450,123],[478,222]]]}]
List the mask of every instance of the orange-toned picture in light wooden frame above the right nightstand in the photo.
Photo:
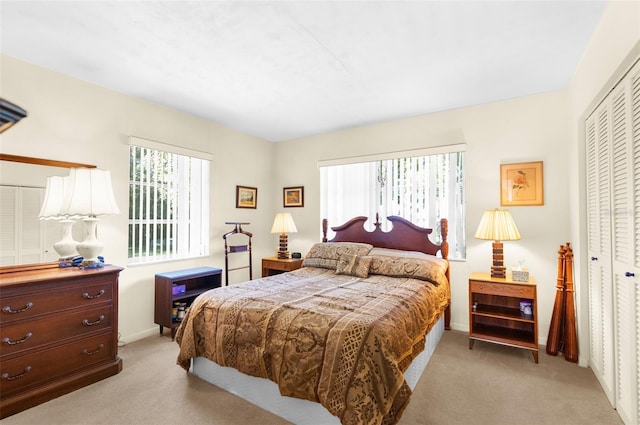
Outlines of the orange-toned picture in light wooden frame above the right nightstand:
[{"label": "orange-toned picture in light wooden frame above the right nightstand", "polygon": [[500,164],[500,205],[544,205],[542,161]]}]

